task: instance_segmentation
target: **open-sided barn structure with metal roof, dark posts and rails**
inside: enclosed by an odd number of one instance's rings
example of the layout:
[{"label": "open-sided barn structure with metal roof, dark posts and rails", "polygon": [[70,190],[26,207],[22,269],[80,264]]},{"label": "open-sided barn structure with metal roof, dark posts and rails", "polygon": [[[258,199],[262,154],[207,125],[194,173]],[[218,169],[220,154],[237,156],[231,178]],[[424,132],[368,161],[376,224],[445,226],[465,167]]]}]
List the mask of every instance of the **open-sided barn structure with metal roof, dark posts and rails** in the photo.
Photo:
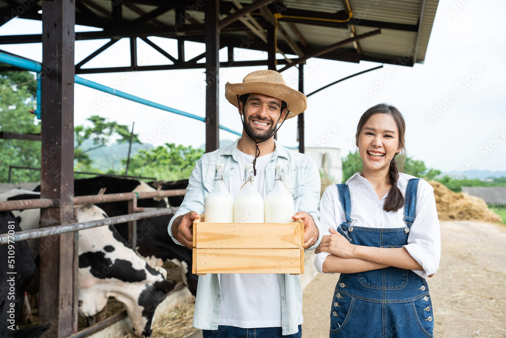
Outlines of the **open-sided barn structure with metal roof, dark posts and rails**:
[{"label": "open-sided barn structure with metal roof, dark posts and rails", "polygon": [[[39,136],[42,154],[41,198],[37,202],[2,202],[1,210],[20,207],[43,208],[41,229],[21,232],[16,241],[40,238],[48,250],[40,256],[40,297],[45,299],[39,309],[40,323],[53,323],[45,336],[86,336],[77,332],[77,236],[80,229],[105,226],[114,222],[131,222],[171,210],[151,210],[136,214],[107,218],[92,223],[73,221],[74,205],[81,203],[73,189],[73,108],[74,84],[88,85],[157,108],[184,113],[142,98],[121,93],[77,76],[85,73],[147,71],[168,69],[205,68],[205,118],[195,118],[206,124],[206,152],[218,148],[218,130],[226,128],[219,123],[218,83],[219,68],[232,66],[267,66],[284,71],[299,68],[299,90],[304,92],[304,64],[311,57],[329,60],[359,62],[360,60],[413,66],[423,62],[432,29],[437,0],[400,2],[368,2],[343,0],[321,4],[315,1],[273,2],[272,0],[233,1],[161,1],[161,0],[62,0],[17,1],[0,0],[3,13],[0,24],[14,17],[41,20],[42,34],[0,36],[0,44],[42,43],[41,64],[8,53],[0,54],[0,62],[8,64],[2,70],[28,69],[37,77],[37,110],[43,133]],[[354,12],[355,11],[355,12]],[[204,20],[205,19],[205,20]],[[74,25],[102,28],[102,31],[74,33]],[[178,57],[152,43],[149,36],[177,39]],[[281,37],[282,39],[279,39]],[[74,62],[76,40],[109,39],[109,42],[79,63]],[[112,46],[119,39],[130,40],[131,66],[109,68],[82,68],[84,64]],[[139,66],[137,39],[149,44],[164,55],[169,64]],[[268,52],[267,60],[235,61],[234,48],[244,48],[244,39],[250,39],[249,49]],[[205,52],[186,60],[184,43],[199,42]],[[249,40],[248,40],[249,41]],[[335,42],[337,41],[337,42]],[[332,42],[329,44],[329,42]],[[334,43],[335,42],[335,43]],[[228,60],[220,62],[218,52],[227,47]],[[285,54],[286,53],[286,54]],[[277,59],[276,54],[283,55]],[[296,57],[289,57],[295,55]],[[197,63],[205,57],[205,63]],[[51,90],[45,90],[50,88]],[[186,113],[187,114],[187,113]],[[184,114],[182,114],[184,115]],[[298,117],[299,151],[304,152],[304,115]],[[226,130],[226,129],[225,129]],[[229,130],[230,131],[230,130]],[[32,138],[33,135],[3,134],[2,137]],[[68,142],[63,142],[63,140]],[[158,196],[164,196],[160,192]],[[167,195],[168,196],[168,195]],[[99,202],[100,196],[90,197],[88,203]],[[132,206],[134,199],[132,196]],[[134,206],[132,207],[132,212]],[[134,244],[135,236],[129,241]],[[5,244],[5,235],[0,244]],[[72,281],[71,283],[69,281]],[[97,330],[118,320],[121,315],[103,322]]]}]

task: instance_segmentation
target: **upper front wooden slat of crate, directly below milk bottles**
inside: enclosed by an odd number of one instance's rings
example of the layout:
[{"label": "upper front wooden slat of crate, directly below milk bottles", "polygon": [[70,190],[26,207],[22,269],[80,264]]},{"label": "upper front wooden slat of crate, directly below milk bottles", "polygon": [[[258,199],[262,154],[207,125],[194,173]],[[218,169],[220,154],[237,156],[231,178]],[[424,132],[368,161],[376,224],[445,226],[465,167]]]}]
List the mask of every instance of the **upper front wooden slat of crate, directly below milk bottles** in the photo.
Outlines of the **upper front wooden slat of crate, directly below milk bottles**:
[{"label": "upper front wooden slat of crate, directly below milk bottles", "polygon": [[[195,231],[196,230],[196,231]],[[196,223],[196,248],[300,248],[299,222],[293,223]]]}]

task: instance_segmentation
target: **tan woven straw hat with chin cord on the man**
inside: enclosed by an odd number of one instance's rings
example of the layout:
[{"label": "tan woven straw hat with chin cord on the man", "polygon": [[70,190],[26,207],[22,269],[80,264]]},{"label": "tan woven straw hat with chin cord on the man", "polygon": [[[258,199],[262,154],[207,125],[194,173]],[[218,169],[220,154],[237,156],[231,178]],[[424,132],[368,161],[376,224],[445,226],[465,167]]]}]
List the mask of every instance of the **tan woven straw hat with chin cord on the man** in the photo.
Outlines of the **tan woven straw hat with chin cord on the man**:
[{"label": "tan woven straw hat with chin cord on the man", "polygon": [[308,107],[308,98],[303,93],[286,85],[283,76],[275,70],[257,70],[247,74],[242,83],[225,85],[225,97],[237,107],[237,95],[259,93],[285,101],[289,110],[287,119],[297,116]]}]

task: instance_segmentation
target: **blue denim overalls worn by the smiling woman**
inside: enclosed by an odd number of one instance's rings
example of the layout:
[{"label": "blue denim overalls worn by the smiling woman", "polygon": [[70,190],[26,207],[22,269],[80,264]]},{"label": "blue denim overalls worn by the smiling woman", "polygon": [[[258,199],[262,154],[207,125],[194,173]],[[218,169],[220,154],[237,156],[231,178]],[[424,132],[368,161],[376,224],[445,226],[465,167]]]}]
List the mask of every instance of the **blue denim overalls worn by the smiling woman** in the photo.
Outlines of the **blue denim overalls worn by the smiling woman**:
[{"label": "blue denim overalls worn by the smiling woman", "polygon": [[[407,244],[415,219],[419,178],[410,179],[404,205],[405,228],[354,227],[350,190],[337,184],[346,221],[338,231],[357,245],[400,248]],[[388,267],[341,274],[330,310],[330,338],[433,337],[434,314],[429,287],[411,270]]]}]

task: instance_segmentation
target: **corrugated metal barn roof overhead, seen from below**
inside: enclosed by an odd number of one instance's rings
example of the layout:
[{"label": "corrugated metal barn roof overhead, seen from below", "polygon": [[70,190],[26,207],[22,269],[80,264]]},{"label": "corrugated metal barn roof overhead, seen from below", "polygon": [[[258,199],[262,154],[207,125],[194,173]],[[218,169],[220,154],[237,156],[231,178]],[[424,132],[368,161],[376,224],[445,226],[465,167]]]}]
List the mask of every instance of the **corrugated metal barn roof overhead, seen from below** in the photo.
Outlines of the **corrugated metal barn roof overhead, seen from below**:
[{"label": "corrugated metal barn roof overhead, seen from below", "polygon": [[[353,62],[368,60],[398,63],[408,66],[412,65],[414,58],[416,58],[415,62],[424,62],[439,0],[349,0],[353,11],[351,20],[347,23],[329,21],[328,19],[342,20],[343,17],[346,18],[345,1],[285,0],[284,3],[273,2],[267,7],[272,13],[277,11],[285,16],[278,19],[278,24],[284,28],[304,54],[311,54],[339,41],[349,39],[352,36],[352,29],[355,29],[356,34],[360,35],[381,28],[381,34],[358,41],[359,50],[355,48],[354,44],[348,44],[319,57]],[[241,4],[247,6],[251,2],[251,0],[243,0]],[[21,4],[22,0],[0,0],[0,11],[6,13],[5,11],[8,12],[9,8],[16,6],[16,3]],[[132,30],[137,27],[130,26],[130,23],[140,17],[163,6],[174,5],[172,9],[140,23],[138,27],[141,30],[166,27],[167,33],[159,33],[158,29],[157,34],[154,35],[173,38],[184,37],[184,32],[174,32],[174,25],[181,20],[180,15],[176,14],[176,10],[187,9],[190,18],[186,20],[186,24],[195,26],[204,22],[204,6],[198,7],[195,4],[196,0],[124,0],[119,5],[122,9],[123,22],[118,25],[117,18],[112,18],[113,2],[110,0],[76,0],[76,24],[92,25],[103,28],[104,31],[108,29],[113,29],[115,32],[121,29]],[[220,6],[221,18],[226,17],[230,10],[236,9],[231,1],[226,0],[222,0]],[[20,17],[40,19],[40,14],[37,13],[39,9],[40,1]],[[423,16],[420,17],[422,9]],[[256,10],[252,15],[263,27],[267,27],[270,24],[269,20],[262,17],[260,12],[260,10]],[[221,32],[222,45],[240,47],[242,39],[252,36],[252,33],[244,25],[239,22],[234,24],[236,30],[229,27]],[[303,35],[307,46],[302,43],[299,32],[292,29],[293,26]],[[143,36],[146,36],[145,32]],[[282,34],[278,33],[277,36],[278,48],[286,54],[295,54],[289,44],[284,41]],[[106,39],[107,36],[103,38]],[[203,42],[203,31],[200,35],[198,32],[192,31],[186,36],[186,39]],[[0,36],[0,43],[7,43],[2,42],[2,36]],[[248,48],[264,51],[267,49],[261,39]]]}]

